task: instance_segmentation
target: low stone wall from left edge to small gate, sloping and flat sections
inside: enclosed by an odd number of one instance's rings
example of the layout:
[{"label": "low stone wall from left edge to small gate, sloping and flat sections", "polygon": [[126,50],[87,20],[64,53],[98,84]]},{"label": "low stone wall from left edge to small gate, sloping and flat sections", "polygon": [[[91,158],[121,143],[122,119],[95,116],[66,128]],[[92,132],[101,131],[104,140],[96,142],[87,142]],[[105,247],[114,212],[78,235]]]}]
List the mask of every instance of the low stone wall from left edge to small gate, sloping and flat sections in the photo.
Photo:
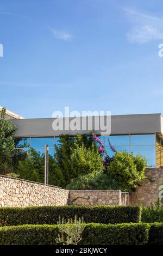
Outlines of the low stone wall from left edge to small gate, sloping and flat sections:
[{"label": "low stone wall from left edge to small gate, sloping and flat sections", "polygon": [[36,182],[0,175],[0,207],[43,205],[126,205],[128,195],[120,190],[64,190]]}]

